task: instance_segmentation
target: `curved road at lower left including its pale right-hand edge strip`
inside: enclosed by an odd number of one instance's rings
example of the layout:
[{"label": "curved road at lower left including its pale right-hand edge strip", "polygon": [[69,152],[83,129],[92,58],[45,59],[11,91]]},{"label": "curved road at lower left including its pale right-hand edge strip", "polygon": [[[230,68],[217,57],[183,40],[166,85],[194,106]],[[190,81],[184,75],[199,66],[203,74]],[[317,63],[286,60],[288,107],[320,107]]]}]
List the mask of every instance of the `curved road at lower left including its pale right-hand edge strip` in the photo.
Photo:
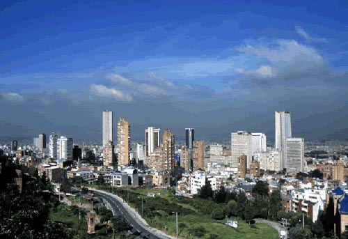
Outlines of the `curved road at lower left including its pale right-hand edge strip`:
[{"label": "curved road at lower left including its pale right-hand edge strip", "polygon": [[127,222],[129,222],[129,224],[131,224],[134,229],[141,232],[142,236],[147,236],[151,239],[173,238],[172,236],[166,235],[162,231],[150,229],[145,221],[141,222],[141,220],[143,219],[136,218],[137,216],[135,215],[135,213],[131,213],[128,208],[125,208],[124,203],[122,203],[122,201],[119,201],[120,199],[118,199],[115,195],[100,190],[90,189],[90,191],[107,201],[109,203],[109,206],[111,206],[113,215],[122,215],[123,217],[125,217]]}]

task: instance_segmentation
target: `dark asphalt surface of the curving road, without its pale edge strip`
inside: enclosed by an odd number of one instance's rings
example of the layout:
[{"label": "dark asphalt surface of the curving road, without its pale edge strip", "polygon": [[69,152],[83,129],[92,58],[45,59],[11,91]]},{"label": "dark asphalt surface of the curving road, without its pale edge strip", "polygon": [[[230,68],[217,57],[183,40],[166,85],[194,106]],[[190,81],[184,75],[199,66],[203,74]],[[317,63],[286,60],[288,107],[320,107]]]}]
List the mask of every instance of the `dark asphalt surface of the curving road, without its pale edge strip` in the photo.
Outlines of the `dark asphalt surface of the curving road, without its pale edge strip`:
[{"label": "dark asphalt surface of the curving road, without its pale edge strip", "polygon": [[128,210],[125,208],[125,206],[122,205],[122,203],[120,203],[118,200],[114,199],[112,196],[110,196],[109,194],[105,194],[102,192],[97,192],[95,190],[92,190],[93,193],[97,196],[99,196],[100,198],[106,200],[107,202],[109,202],[113,214],[116,215],[121,215],[123,217],[125,217],[125,219],[127,220],[127,222],[129,222],[129,224],[131,224],[133,226],[134,229],[136,229],[137,231],[141,232],[142,236],[147,236],[148,238],[153,238],[153,239],[161,239],[158,236],[156,236],[155,234],[152,233],[152,231],[150,231],[149,229],[145,228],[145,226],[141,225],[139,222],[137,222],[136,219],[134,219],[134,217],[132,217],[132,215],[129,214]]}]

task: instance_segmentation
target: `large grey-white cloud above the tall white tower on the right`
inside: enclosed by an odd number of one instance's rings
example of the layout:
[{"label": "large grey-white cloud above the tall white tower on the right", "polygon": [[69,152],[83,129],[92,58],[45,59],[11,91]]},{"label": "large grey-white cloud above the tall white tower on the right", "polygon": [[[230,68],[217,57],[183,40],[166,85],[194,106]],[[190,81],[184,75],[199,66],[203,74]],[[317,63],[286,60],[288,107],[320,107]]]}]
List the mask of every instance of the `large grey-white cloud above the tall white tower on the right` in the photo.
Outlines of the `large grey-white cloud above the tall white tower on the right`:
[{"label": "large grey-white cloud above the tall white tower on the right", "polygon": [[317,49],[302,45],[296,40],[276,40],[271,43],[257,42],[239,48],[256,62],[257,68],[245,70],[244,74],[262,79],[299,79],[322,77],[330,73],[329,65]]}]

